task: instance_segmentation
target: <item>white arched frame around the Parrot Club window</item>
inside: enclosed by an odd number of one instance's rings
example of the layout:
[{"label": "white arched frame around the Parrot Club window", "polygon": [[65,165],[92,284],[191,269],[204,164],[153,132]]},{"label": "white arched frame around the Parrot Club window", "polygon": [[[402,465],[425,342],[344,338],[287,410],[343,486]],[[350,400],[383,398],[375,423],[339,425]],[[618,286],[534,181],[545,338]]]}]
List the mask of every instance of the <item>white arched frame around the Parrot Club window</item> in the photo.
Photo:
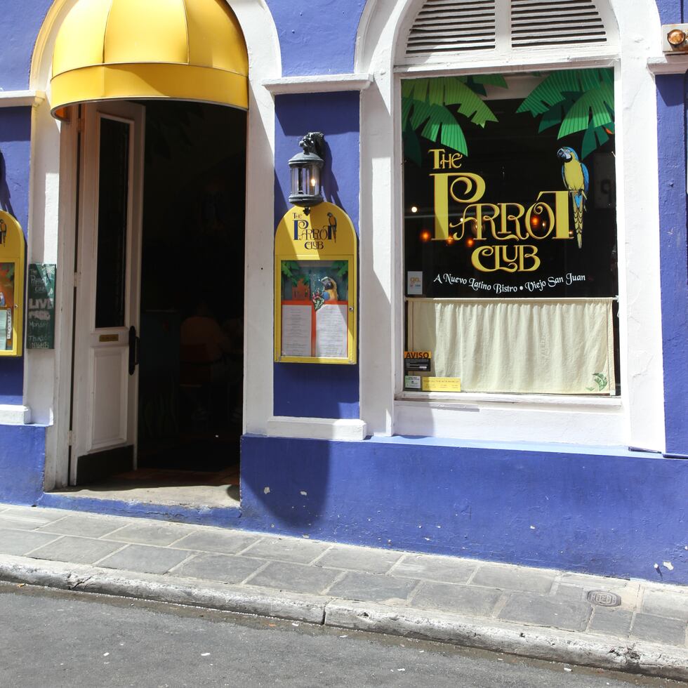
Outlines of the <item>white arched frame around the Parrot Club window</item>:
[{"label": "white arched frame around the Parrot Club window", "polygon": [[[659,37],[660,23],[652,0],[610,1],[597,0],[609,37],[604,46],[564,55],[548,47],[498,56],[489,49],[422,65],[409,65],[405,45],[423,0],[366,6],[356,71],[371,73],[374,86],[362,94],[360,359],[362,418],[372,434],[663,451],[656,89],[647,70],[661,51],[648,27]],[[402,78],[593,67],[614,67],[615,74],[621,396],[403,392]],[[366,299],[371,292],[378,298]]]}]

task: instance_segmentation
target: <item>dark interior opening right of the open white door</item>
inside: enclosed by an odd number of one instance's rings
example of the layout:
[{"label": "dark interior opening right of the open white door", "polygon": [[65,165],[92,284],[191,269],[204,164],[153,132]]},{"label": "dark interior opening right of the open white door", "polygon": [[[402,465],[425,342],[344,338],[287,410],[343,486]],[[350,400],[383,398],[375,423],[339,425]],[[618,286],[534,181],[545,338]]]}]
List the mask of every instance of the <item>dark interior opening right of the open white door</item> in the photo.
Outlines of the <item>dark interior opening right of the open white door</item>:
[{"label": "dark interior opening right of the open white door", "polygon": [[145,106],[138,470],[131,477],[238,492],[246,113],[197,102]]}]

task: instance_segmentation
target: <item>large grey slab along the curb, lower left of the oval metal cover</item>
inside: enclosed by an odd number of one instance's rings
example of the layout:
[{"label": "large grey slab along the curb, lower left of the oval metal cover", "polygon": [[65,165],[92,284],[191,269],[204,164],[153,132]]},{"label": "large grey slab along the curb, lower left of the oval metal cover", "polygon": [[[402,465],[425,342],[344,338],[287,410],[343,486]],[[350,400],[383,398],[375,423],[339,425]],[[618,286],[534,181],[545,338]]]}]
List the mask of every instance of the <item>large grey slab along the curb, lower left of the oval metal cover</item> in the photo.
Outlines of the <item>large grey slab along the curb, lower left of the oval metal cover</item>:
[{"label": "large grey slab along the curb, lower left of the oval metal cover", "polygon": [[561,600],[533,593],[512,593],[498,618],[562,630],[586,630],[593,608],[587,602]]}]

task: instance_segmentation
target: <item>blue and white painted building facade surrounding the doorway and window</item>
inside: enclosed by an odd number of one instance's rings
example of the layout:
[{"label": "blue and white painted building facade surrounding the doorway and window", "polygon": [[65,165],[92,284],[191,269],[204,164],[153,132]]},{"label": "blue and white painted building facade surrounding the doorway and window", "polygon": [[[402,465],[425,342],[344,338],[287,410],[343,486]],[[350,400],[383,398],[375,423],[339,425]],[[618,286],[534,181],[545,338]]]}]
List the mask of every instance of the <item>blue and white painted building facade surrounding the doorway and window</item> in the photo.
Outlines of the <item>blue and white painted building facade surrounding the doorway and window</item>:
[{"label": "blue and white painted building facade surrounding the doorway and window", "polygon": [[[451,22],[431,0],[229,1],[249,65],[241,499],[157,509],[65,491],[77,475],[74,165],[86,153],[77,117],[51,116],[51,64],[78,4],[6,0],[0,15],[0,206],[23,227],[28,262],[58,270],[54,348],[0,357],[0,501],[688,583],[688,53],[663,44],[683,0],[591,1],[603,39],[531,48],[517,47],[514,10],[486,20],[493,43],[470,50],[446,49]],[[435,48],[414,48],[423,16]],[[409,390],[404,82],[572,69],[611,70],[616,99],[618,389]],[[308,131],[325,135],[325,200],[359,239],[352,365],[274,356],[272,241]]]}]

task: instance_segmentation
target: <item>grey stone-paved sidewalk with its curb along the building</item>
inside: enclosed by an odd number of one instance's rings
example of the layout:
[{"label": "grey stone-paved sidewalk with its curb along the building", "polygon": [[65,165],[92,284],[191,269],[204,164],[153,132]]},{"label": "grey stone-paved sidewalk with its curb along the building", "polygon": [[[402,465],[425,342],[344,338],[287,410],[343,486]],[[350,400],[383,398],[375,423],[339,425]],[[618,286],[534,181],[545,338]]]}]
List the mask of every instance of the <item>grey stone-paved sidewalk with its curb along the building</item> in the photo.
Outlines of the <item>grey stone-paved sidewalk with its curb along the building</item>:
[{"label": "grey stone-paved sidewalk with its curb along the building", "polygon": [[688,680],[683,586],[11,505],[0,580]]}]

